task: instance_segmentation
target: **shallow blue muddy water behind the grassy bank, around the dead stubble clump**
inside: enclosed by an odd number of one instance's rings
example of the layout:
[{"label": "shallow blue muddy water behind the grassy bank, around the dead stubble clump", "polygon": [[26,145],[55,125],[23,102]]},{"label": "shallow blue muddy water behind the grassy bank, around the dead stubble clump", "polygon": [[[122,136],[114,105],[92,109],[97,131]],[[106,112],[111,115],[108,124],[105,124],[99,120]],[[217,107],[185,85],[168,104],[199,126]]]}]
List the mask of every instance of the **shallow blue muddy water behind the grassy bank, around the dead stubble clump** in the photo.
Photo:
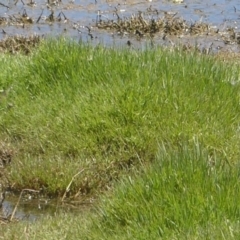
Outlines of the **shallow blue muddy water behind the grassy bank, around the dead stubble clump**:
[{"label": "shallow blue muddy water behind the grassy bank, around the dead stubble clump", "polygon": [[[167,39],[163,39],[159,33],[151,39],[155,44],[190,42],[205,47],[211,45],[215,49],[238,51],[237,44],[232,44],[231,41],[226,44],[221,37],[229,27],[238,32],[240,2],[237,0],[184,0],[183,3],[174,3],[174,0],[0,0],[0,39],[16,34],[50,34],[117,46],[126,44],[130,39],[134,45],[141,46],[149,39],[143,37],[139,41],[127,32],[119,34],[111,29],[98,29],[96,21],[100,18],[115,21],[116,13],[124,19],[147,9],[156,9],[160,17],[167,12],[188,22],[206,22],[220,33],[219,36],[191,38],[183,35]],[[156,16],[152,13],[147,17]]]}]

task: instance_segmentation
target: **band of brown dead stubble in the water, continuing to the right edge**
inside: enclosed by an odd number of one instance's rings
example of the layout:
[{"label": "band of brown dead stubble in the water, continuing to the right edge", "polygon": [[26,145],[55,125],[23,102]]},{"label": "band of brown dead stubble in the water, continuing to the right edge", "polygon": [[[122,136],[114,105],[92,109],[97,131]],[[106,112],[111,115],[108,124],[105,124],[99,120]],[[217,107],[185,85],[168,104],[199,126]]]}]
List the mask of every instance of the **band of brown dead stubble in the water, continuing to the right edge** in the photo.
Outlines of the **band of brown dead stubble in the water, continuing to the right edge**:
[{"label": "band of brown dead stubble in the water, continuing to the right edge", "polygon": [[120,35],[131,34],[139,38],[150,36],[153,37],[157,33],[166,36],[216,36],[221,39],[224,44],[240,44],[240,33],[232,27],[226,30],[211,26],[202,21],[188,22],[178,13],[158,11],[157,9],[148,8],[147,11],[133,14],[130,17],[120,17],[118,10],[114,12],[114,18],[102,18],[98,15],[96,27],[102,30],[116,31]]}]

